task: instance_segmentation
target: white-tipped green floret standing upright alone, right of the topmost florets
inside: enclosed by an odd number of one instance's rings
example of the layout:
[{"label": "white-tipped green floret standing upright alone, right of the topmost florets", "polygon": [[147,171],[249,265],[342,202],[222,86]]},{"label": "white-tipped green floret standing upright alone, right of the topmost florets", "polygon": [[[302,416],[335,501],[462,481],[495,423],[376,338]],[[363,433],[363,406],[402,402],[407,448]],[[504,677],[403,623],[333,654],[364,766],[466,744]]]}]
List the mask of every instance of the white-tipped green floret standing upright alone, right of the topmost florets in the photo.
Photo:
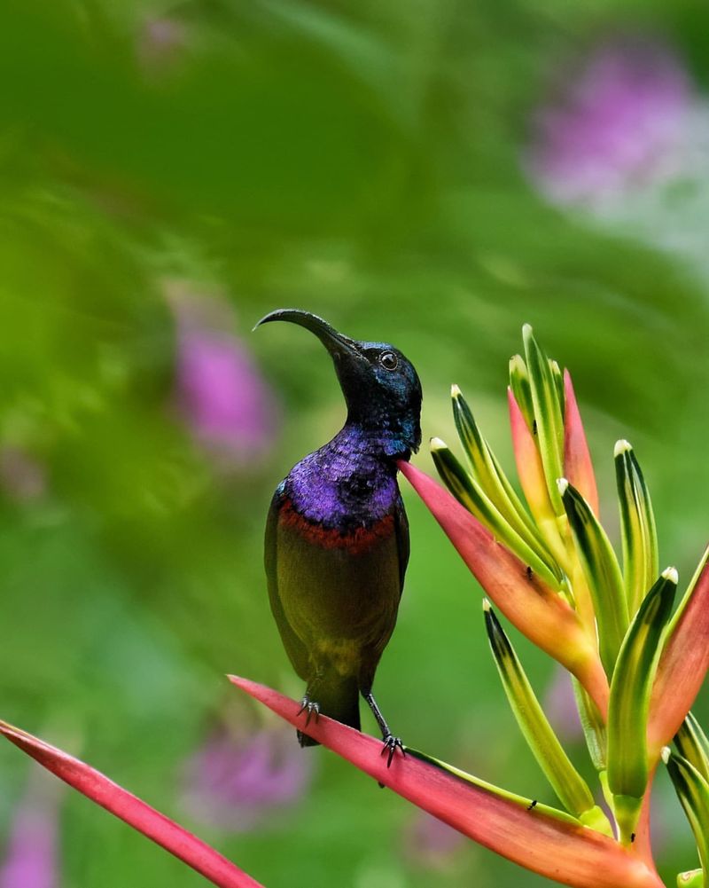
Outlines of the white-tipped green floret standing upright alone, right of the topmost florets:
[{"label": "white-tipped green floret standing upright alone, right of the topmost florets", "polygon": [[626,440],[619,440],[614,456],[623,541],[623,575],[628,608],[634,614],[658,575],[658,533],[650,493],[633,448]]}]

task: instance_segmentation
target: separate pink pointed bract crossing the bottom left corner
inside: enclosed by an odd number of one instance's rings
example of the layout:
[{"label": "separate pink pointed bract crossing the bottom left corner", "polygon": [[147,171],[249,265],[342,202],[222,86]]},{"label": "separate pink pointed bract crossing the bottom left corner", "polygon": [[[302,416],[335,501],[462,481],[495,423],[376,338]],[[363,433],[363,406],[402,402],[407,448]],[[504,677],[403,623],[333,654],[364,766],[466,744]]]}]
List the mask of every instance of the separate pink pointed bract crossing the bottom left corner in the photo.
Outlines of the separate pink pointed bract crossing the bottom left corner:
[{"label": "separate pink pointed bract crossing the bottom left corner", "polygon": [[[210,848],[209,844],[170,821],[90,765],[4,721],[0,721],[0,733],[47,771],[183,860],[218,888],[263,888],[214,848]],[[12,885],[12,888],[19,888],[19,885]]]}]

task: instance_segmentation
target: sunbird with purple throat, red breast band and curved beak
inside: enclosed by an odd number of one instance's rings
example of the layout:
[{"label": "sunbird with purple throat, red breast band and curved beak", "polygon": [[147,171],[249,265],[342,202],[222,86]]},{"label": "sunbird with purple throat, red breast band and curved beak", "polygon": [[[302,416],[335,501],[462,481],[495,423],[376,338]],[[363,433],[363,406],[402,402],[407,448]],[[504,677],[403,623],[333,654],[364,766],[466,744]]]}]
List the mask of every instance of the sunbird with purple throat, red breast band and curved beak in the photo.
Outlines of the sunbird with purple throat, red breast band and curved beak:
[{"label": "sunbird with purple throat, red breast band and curved beak", "polygon": [[[347,417],[343,428],[288,472],[272,497],[264,564],[272,614],[295,672],[306,683],[301,746],[311,718],[358,731],[359,695],[382,732],[391,765],[405,754],[374,700],[374,672],[397,621],[409,559],[399,460],[421,445],[421,382],[393,345],[343,336],[300,309],[266,314],[319,338],[332,357]],[[254,329],[256,329],[256,327]]]}]

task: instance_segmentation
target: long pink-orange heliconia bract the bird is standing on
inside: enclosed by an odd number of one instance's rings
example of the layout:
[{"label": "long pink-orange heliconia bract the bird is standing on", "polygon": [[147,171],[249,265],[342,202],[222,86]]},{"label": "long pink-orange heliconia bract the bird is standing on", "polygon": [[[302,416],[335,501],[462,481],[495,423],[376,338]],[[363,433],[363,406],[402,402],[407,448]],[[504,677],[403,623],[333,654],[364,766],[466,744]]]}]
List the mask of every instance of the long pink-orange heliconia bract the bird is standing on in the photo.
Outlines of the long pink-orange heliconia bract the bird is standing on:
[{"label": "long pink-orange heliconia bract the bird is standing on", "polygon": [[[301,704],[271,688],[232,682],[303,729]],[[414,749],[387,767],[382,741],[320,716],[311,736],[374,780],[508,860],[577,888],[661,888],[657,873],[609,836],[569,814],[516,796]]]}]

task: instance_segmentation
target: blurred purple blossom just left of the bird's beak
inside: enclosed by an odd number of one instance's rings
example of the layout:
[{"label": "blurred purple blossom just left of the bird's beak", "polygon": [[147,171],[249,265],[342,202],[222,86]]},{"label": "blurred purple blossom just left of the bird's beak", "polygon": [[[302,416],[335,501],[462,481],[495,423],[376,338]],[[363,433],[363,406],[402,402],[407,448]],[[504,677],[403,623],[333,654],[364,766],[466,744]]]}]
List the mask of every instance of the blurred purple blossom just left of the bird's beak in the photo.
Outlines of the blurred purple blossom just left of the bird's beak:
[{"label": "blurred purple blossom just left of the bird's beak", "polygon": [[194,438],[225,468],[272,447],[277,409],[248,348],[230,330],[230,306],[169,287],[177,321],[177,408]]}]

